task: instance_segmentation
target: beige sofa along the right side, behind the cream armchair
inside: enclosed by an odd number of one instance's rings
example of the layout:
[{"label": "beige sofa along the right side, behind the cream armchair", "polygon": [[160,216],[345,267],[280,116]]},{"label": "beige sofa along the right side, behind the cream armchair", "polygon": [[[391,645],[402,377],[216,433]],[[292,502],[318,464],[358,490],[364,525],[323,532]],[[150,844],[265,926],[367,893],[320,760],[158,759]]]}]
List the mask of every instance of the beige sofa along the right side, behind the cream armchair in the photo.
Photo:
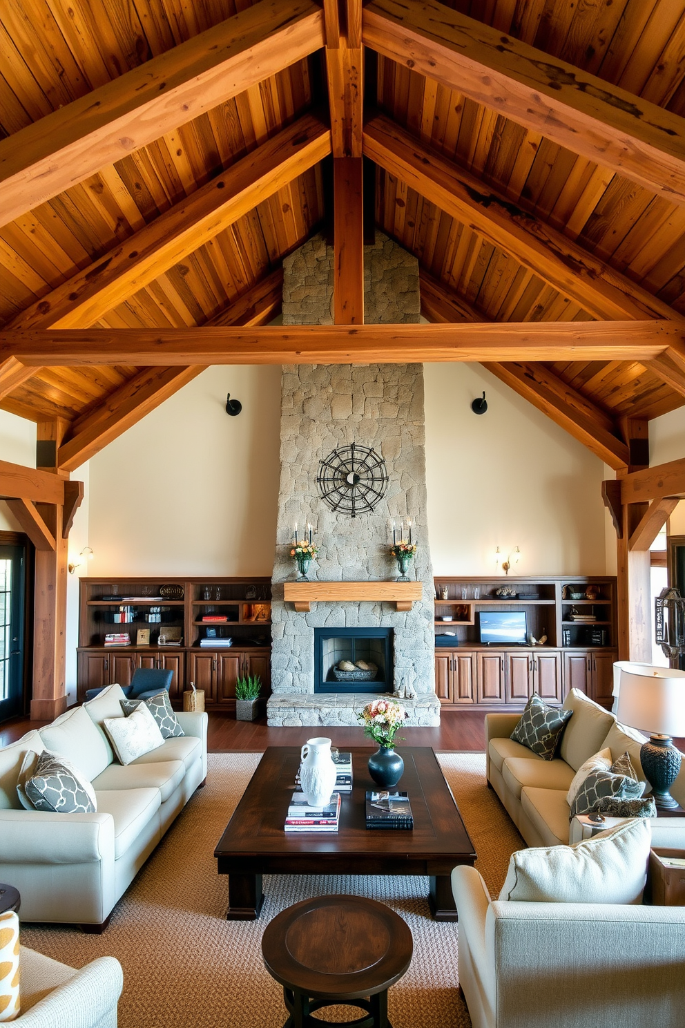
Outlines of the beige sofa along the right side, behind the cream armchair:
[{"label": "beige sofa along the right side, behind the cream armchair", "polygon": [[[640,747],[644,736],[618,725],[616,719],[577,689],[564,701],[573,710],[559,754],[544,761],[527,746],[509,738],[520,713],[489,713],[485,718],[488,783],[497,793],[511,820],[529,846],[568,844],[569,806],[566,794],[580,765],[609,747],[614,760],[626,749],[638,775],[644,779]],[[685,768],[672,795],[685,807]],[[652,819],[655,844],[685,848],[685,817]]]}]

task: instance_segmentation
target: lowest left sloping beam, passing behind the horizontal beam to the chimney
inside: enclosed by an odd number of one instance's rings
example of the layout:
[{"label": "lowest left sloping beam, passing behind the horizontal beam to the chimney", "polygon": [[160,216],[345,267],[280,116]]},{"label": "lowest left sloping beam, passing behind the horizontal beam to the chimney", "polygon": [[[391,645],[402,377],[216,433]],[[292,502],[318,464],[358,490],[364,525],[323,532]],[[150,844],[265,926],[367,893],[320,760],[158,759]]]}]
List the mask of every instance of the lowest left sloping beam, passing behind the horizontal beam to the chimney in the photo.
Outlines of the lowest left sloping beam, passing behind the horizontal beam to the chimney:
[{"label": "lowest left sloping beam, passing behind the horizontal beam to the chimney", "polygon": [[[280,305],[282,268],[278,268],[262,282],[243,293],[225,311],[218,315],[215,324],[263,325],[271,319]],[[190,367],[145,368],[107,399],[93,411],[79,417],[58,451],[61,471],[73,471],[101,449],[117,439],[132,425],[154,410],[188,382],[196,378],[204,365]]]}]

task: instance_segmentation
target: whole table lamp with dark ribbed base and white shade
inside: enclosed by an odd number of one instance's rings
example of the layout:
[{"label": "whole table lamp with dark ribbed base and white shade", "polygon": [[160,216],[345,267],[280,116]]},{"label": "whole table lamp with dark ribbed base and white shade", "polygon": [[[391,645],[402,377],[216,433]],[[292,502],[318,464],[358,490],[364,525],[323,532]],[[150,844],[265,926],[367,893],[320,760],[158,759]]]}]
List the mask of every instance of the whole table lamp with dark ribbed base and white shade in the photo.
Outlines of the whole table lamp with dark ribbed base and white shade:
[{"label": "whole table lamp with dark ribbed base and white shade", "polygon": [[649,741],[640,749],[642,770],[656,806],[677,807],[669,790],[678,777],[682,755],[672,736],[685,735],[685,671],[647,665],[639,671],[621,668],[616,718],[649,732]]}]

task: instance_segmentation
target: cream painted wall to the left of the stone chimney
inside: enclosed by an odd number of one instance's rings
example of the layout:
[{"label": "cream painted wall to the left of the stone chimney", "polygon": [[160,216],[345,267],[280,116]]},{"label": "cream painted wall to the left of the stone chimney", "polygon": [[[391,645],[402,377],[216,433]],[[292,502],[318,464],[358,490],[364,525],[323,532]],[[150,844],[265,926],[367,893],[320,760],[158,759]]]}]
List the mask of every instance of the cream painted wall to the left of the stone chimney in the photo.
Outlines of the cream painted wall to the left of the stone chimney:
[{"label": "cream painted wall to the left of the stone chimney", "polygon": [[92,457],[88,574],[270,575],[279,420],[279,367],[212,367]]}]

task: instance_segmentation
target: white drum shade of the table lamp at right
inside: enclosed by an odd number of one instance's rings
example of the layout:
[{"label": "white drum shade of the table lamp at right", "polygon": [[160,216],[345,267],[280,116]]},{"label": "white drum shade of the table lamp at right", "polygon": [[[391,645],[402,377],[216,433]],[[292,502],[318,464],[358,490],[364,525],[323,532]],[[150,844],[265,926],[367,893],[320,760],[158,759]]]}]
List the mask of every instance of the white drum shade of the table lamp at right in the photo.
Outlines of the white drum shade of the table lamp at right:
[{"label": "white drum shade of the table lamp at right", "polygon": [[616,717],[654,735],[685,735],[685,671],[649,665],[639,672],[621,668]]}]

